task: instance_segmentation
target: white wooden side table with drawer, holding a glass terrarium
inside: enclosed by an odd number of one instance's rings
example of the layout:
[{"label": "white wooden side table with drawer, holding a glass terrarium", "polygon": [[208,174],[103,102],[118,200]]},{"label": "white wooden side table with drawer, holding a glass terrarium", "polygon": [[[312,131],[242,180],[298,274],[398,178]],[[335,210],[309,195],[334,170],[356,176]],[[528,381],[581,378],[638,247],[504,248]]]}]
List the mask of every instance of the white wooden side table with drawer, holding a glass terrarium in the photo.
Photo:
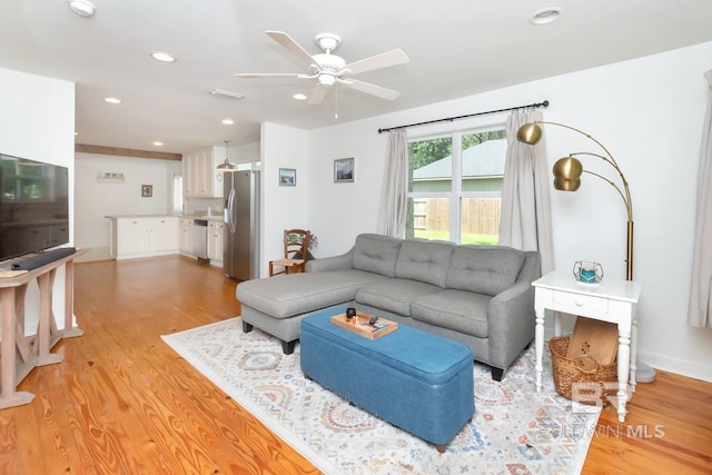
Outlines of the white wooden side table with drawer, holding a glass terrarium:
[{"label": "white wooden side table with drawer, holding a glass terrarium", "polygon": [[[600,284],[582,284],[574,279],[572,273],[554,270],[534,280],[534,313],[536,315],[536,390],[542,390],[542,372],[544,366],[544,318],[545,310],[562,311],[610,321],[619,326],[616,394],[619,420],[625,420],[625,402],[627,384],[631,393],[635,392],[635,354],[637,352],[637,316],[636,307],[642,285],[633,280],[603,279]],[[554,317],[554,334],[561,334],[558,315]]]}]

